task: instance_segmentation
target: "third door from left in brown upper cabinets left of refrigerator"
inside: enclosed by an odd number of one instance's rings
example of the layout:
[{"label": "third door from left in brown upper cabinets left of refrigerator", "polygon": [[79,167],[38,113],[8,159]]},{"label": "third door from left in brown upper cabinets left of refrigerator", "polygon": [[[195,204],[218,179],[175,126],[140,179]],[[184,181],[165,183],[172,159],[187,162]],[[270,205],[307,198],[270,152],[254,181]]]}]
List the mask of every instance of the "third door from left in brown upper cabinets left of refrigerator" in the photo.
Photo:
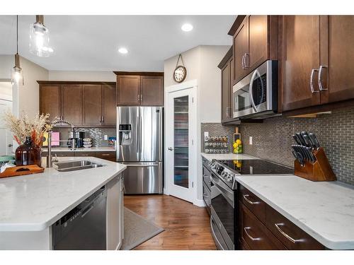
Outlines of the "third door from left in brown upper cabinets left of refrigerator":
[{"label": "third door from left in brown upper cabinets left of refrigerator", "polygon": [[97,125],[102,122],[102,86],[83,85],[84,125]]}]

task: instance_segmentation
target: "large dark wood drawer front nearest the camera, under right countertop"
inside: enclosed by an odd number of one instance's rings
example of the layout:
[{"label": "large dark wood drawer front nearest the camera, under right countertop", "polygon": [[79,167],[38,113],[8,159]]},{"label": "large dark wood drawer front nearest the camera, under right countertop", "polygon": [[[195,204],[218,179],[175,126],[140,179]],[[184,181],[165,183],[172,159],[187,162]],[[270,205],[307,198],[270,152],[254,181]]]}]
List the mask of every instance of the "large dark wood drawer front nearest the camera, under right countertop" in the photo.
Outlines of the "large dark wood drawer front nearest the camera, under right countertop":
[{"label": "large dark wood drawer front nearest the camera, under right countertop", "polygon": [[267,205],[266,225],[288,249],[324,249],[324,246]]}]

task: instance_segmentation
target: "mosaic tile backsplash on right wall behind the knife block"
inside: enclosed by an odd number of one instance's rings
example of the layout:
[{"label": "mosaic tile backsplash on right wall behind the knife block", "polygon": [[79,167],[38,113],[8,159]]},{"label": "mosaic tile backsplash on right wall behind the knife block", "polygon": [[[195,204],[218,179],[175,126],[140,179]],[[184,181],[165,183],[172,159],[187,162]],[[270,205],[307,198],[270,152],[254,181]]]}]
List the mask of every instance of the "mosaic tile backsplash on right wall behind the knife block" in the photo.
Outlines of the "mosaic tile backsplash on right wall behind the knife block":
[{"label": "mosaic tile backsplash on right wall behind the knife block", "polygon": [[[240,125],[244,153],[292,167],[292,134],[300,131],[316,134],[337,179],[354,185],[354,107],[317,118],[275,117],[262,124]],[[252,145],[249,136],[253,137]]]}]

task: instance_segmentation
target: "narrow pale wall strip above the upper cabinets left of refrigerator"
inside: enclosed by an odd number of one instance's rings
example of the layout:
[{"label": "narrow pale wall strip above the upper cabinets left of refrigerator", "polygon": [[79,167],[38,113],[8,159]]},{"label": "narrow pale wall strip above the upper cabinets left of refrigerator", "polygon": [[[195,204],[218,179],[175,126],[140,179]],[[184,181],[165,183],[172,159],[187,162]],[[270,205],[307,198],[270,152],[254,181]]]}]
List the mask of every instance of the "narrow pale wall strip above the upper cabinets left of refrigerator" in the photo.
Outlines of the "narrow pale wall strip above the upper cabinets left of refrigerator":
[{"label": "narrow pale wall strip above the upper cabinets left of refrigerator", "polygon": [[113,71],[49,71],[50,81],[102,81],[115,82]]}]

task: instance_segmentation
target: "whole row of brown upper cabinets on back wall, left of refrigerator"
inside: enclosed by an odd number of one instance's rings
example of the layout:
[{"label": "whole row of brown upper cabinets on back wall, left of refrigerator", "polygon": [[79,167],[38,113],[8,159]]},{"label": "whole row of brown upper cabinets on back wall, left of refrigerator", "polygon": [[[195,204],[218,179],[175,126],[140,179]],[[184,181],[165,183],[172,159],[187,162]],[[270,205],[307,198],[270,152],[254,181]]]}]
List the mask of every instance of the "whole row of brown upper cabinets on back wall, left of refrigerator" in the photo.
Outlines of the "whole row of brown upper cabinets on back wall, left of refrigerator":
[{"label": "whole row of brown upper cabinets on back wall, left of refrigerator", "polygon": [[[115,82],[38,81],[40,112],[60,117],[75,126],[115,126]],[[67,126],[62,124],[62,126]]]}]

